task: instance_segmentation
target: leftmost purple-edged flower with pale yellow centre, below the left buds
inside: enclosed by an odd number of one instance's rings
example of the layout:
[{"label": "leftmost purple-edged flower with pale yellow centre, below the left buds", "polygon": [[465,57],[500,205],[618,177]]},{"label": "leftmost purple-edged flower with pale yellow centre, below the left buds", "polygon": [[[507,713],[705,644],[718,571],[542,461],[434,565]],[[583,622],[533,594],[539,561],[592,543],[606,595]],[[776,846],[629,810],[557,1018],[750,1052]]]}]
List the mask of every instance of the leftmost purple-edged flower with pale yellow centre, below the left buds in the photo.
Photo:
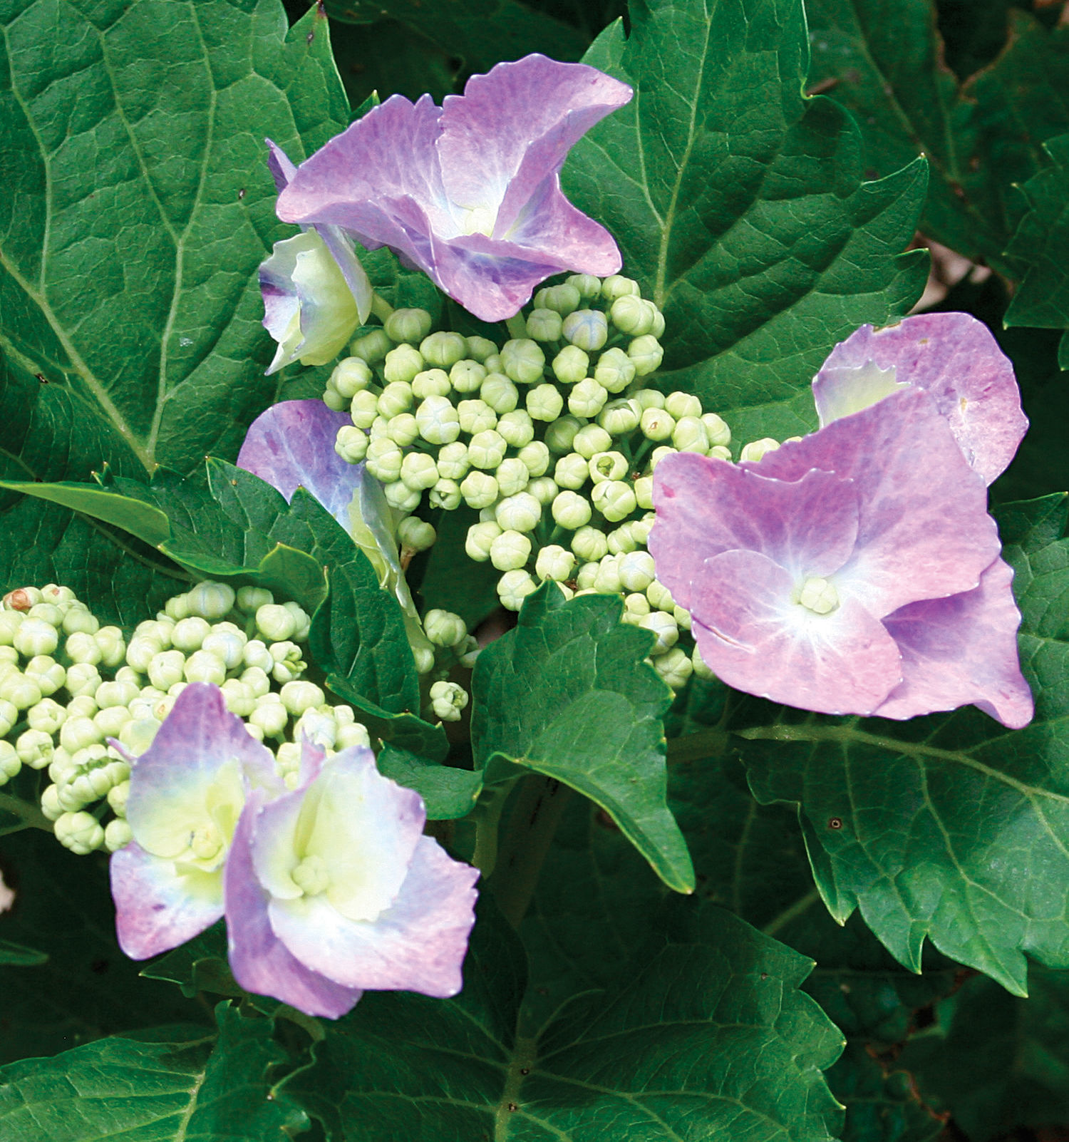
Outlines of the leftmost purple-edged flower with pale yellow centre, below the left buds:
[{"label": "leftmost purple-edged flower with pale yellow centre, below the left buds", "polygon": [[204,682],[182,691],[130,764],[134,839],[112,855],[111,887],[119,947],[145,959],[223,915],[223,866],[246,797],[254,788],[276,796],[286,786],[270,750]]}]

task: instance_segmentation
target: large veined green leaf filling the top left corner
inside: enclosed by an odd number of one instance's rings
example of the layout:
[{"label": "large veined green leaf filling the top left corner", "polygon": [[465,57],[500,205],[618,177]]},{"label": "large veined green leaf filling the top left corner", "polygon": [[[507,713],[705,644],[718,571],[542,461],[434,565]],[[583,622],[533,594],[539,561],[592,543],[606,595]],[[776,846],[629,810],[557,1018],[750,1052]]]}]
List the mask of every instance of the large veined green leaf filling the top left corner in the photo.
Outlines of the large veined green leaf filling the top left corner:
[{"label": "large veined green leaf filling the top left corner", "polygon": [[264,137],[297,161],[348,119],[327,21],[287,31],[278,0],[6,0],[0,25],[2,344],[48,381],[3,395],[5,435],[51,421],[75,478],[87,435],[147,471],[233,453],[273,395],[256,270],[292,232]]}]

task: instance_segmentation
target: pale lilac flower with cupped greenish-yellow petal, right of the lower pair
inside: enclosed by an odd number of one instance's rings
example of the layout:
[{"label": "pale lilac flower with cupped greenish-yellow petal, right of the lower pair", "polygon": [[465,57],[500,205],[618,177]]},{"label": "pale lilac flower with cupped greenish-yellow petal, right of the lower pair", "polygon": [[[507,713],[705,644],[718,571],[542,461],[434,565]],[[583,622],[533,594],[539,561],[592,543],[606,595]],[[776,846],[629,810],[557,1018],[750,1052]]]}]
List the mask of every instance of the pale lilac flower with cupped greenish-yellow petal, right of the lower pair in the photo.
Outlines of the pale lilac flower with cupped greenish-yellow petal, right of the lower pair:
[{"label": "pale lilac flower with cupped greenish-yellow petal, right of the lower pair", "polygon": [[255,794],[226,866],[234,978],[313,1015],[365,989],[456,995],[479,871],[423,835],[419,795],[355,746],[324,761],[307,741],[302,783]]}]

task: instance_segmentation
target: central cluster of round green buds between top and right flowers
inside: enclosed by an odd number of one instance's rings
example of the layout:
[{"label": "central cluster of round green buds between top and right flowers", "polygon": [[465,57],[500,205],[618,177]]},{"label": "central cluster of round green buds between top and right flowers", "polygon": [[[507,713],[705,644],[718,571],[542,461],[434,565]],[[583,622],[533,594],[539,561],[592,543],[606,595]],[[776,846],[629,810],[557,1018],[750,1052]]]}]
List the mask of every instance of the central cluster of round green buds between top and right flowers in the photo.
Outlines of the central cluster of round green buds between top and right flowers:
[{"label": "central cluster of round green buds between top and right flowers", "polygon": [[[357,337],[323,397],[352,419],[338,453],[365,464],[399,512],[425,493],[431,508],[477,509],[466,550],[501,572],[504,606],[519,610],[546,579],[569,597],[622,594],[625,620],[656,635],[652,661],[669,685],[707,675],[645,545],[657,465],[676,451],[731,460],[730,428],[697,396],[654,387],[665,320],[628,278],[573,274],[508,324],[498,347],[396,309]],[[778,447],[754,441],[740,457]],[[435,531],[410,516],[399,539],[411,557]]]}]

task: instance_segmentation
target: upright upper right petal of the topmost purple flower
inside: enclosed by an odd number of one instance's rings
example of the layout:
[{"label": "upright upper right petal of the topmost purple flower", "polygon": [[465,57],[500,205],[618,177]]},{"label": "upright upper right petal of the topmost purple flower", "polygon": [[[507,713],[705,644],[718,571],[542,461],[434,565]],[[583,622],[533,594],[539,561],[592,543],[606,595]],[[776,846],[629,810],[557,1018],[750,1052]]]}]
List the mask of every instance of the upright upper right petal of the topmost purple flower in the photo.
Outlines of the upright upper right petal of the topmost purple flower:
[{"label": "upright upper right petal of the topmost purple flower", "polygon": [[463,96],[442,104],[437,152],[449,196],[468,209],[500,208],[495,236],[505,236],[571,147],[630,97],[595,67],[541,55],[473,75]]}]

